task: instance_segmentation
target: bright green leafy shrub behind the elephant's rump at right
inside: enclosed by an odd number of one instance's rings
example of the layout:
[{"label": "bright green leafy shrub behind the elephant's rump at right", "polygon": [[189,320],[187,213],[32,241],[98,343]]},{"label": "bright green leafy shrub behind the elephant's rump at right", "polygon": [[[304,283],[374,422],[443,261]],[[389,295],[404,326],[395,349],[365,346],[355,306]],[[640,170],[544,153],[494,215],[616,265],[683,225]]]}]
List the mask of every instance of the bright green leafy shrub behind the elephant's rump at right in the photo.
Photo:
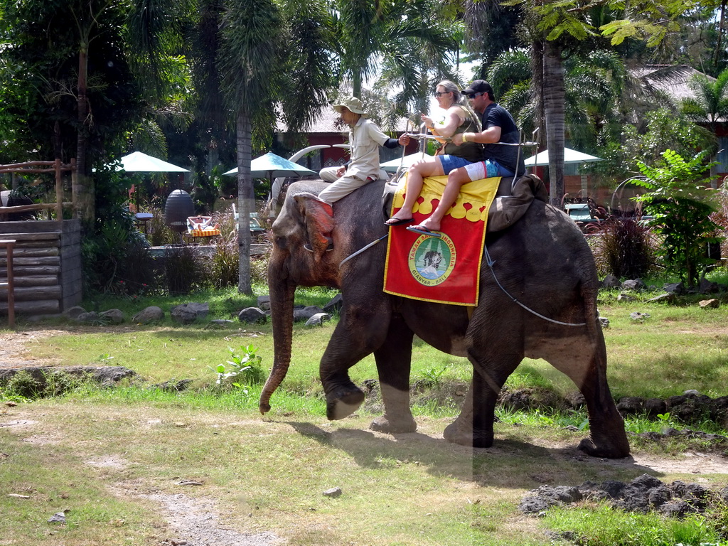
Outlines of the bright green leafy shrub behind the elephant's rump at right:
[{"label": "bright green leafy shrub behind the elephant's rump at right", "polygon": [[695,286],[705,267],[714,263],[705,251],[708,243],[719,241],[713,236],[717,226],[709,216],[715,205],[708,187],[711,177],[705,176],[710,170],[706,156],[703,152],[685,161],[676,151],[665,150],[664,161],[655,167],[638,162],[646,179],[635,181],[648,190],[635,199],[644,203],[646,213],[653,217],[650,226],[662,237],[657,254],[668,272],[689,286]]}]

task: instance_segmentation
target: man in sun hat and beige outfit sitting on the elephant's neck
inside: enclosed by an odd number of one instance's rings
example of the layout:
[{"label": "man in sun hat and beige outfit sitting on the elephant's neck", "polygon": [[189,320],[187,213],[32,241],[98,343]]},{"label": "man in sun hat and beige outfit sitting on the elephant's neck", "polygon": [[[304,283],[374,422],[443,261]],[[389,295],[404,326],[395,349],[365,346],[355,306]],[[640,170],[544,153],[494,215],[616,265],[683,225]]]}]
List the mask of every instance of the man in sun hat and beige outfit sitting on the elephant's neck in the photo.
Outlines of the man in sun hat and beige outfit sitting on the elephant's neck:
[{"label": "man in sun hat and beige outfit sitting on the elephant's neck", "polygon": [[319,173],[325,182],[331,182],[319,194],[319,199],[331,205],[346,197],[352,191],[366,183],[375,181],[382,175],[379,167],[379,146],[397,148],[409,143],[409,136],[403,134],[399,139],[389,138],[381,132],[376,123],[368,119],[362,101],[356,97],[347,97],[333,109],[341,114],[341,120],[349,125],[350,161],[344,167],[326,167]]}]

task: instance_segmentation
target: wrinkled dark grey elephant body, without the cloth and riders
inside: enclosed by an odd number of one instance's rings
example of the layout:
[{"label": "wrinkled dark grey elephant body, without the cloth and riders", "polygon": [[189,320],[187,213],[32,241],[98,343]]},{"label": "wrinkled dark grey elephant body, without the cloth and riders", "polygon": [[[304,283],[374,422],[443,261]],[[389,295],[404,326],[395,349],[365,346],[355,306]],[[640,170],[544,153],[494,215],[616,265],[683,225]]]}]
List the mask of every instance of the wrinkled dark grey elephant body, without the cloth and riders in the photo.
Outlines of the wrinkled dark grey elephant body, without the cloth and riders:
[{"label": "wrinkled dark grey elephant body, without the cloth and riders", "polygon": [[367,184],[336,202],[334,250],[325,252],[325,245],[319,245],[314,253],[303,247],[309,240],[307,233],[325,231],[320,226],[320,205],[296,195],[318,194],[325,184],[297,182],[288,189],[272,228],[268,278],[275,355],[261,393],[261,413],[270,410],[270,397],[290,364],[296,286],[328,286],[339,288],[344,296],[341,320],[320,363],[329,419],[342,419],[363,402],[364,394],[349,379],[348,370],[373,353],[385,413],[371,429],[414,432],[409,375],[416,334],[440,351],[467,357],[474,368],[462,412],[446,428],[446,440],[490,447],[501,387],[524,357],[543,358],[569,376],[585,397],[590,437],[579,448],[593,456],[627,456],[624,423],[606,381],[606,349],[596,313],[596,268],[574,222],[560,210],[534,200],[515,225],[488,234],[486,245],[497,279],[513,297],[546,317],[585,326],[557,325],[527,312],[498,288],[485,260],[480,304],[468,320],[464,306],[384,293],[385,244],[374,245],[339,269],[341,260],[387,233],[383,184]]}]

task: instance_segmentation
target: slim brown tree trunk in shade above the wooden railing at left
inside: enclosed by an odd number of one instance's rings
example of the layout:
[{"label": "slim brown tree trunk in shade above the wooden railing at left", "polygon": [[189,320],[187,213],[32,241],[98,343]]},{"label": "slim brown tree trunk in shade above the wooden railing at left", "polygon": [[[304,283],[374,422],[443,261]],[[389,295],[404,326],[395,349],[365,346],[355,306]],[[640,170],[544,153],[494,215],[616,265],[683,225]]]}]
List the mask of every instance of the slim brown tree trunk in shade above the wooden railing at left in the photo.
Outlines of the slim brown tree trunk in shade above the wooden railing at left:
[{"label": "slim brown tree trunk in shade above the wooden railing at left", "polygon": [[[86,95],[88,71],[88,43],[82,41],[79,49],[79,77],[76,83],[78,98],[77,109],[79,116],[79,127],[76,136],[76,189],[79,197],[77,211],[82,220],[87,222],[95,221],[96,215],[96,189],[94,180],[88,175],[86,165],[86,150],[89,127],[89,101]],[[60,218],[59,218],[60,219]]]}]

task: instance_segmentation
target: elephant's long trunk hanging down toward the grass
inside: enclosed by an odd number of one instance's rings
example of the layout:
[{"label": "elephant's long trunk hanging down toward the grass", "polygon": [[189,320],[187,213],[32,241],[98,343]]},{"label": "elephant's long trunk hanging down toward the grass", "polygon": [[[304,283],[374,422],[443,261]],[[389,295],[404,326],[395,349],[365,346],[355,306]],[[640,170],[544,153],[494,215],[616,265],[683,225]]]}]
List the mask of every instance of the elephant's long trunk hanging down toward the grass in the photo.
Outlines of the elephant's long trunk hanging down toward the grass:
[{"label": "elephant's long trunk hanging down toward the grass", "polygon": [[290,347],[293,337],[293,298],[296,294],[296,285],[289,282],[282,275],[281,264],[273,257],[269,264],[269,282],[271,298],[271,318],[273,321],[273,368],[268,376],[258,409],[261,414],[270,411],[270,398],[275,389],[285,379],[290,365]]}]

